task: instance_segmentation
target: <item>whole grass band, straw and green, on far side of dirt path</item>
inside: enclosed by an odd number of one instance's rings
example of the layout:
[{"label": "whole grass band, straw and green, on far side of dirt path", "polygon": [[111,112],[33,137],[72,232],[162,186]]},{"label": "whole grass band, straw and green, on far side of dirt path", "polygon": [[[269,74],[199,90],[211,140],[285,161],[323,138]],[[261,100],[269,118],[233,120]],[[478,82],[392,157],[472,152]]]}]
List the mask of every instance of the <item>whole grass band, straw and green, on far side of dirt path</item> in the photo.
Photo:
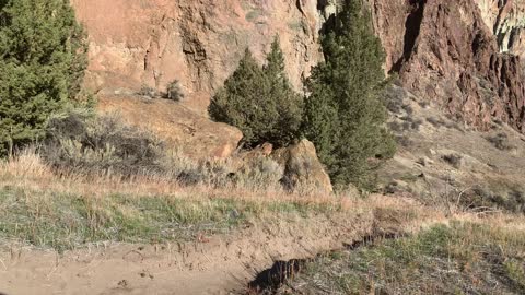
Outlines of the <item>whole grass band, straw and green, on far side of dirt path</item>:
[{"label": "whole grass band, straw and green, on far side of dirt path", "polygon": [[[290,194],[253,185],[182,186],[159,175],[61,175],[27,150],[0,162],[0,240],[58,250],[98,241],[187,240],[249,221],[365,212],[353,196]],[[293,220],[292,219],[292,220]]]}]

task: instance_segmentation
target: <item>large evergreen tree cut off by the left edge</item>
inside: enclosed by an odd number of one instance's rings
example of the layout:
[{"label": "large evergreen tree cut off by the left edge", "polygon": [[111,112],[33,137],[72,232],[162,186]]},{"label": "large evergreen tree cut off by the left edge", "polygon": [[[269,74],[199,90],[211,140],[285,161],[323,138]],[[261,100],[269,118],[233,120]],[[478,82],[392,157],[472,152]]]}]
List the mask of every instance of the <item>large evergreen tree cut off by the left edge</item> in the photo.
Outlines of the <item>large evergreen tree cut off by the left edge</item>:
[{"label": "large evergreen tree cut off by the left edge", "polygon": [[80,91],[86,43],[68,0],[0,1],[0,155]]}]

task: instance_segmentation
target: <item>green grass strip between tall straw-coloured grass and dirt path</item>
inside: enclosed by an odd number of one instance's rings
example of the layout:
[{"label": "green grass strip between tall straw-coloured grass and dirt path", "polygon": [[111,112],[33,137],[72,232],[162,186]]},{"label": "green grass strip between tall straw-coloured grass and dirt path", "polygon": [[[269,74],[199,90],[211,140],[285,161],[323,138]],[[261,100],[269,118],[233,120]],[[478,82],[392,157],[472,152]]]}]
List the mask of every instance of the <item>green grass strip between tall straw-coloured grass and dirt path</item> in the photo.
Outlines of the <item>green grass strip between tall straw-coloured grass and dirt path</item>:
[{"label": "green grass strip between tall straw-coloured grass and dirt path", "polygon": [[59,251],[100,241],[195,240],[234,229],[265,213],[307,216],[340,210],[300,202],[252,202],[165,196],[104,198],[0,188],[0,241]]}]

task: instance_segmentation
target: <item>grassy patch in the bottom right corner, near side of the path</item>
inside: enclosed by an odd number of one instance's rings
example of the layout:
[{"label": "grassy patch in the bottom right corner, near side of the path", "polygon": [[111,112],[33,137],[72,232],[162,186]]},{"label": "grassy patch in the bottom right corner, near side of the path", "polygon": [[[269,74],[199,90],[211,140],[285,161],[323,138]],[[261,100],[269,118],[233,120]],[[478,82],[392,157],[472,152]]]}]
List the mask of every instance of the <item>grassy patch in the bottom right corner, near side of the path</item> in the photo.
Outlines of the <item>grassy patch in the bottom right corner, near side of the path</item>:
[{"label": "grassy patch in the bottom right corner, near side of the path", "polygon": [[312,294],[525,294],[525,233],[440,225],[319,257],[290,284]]}]

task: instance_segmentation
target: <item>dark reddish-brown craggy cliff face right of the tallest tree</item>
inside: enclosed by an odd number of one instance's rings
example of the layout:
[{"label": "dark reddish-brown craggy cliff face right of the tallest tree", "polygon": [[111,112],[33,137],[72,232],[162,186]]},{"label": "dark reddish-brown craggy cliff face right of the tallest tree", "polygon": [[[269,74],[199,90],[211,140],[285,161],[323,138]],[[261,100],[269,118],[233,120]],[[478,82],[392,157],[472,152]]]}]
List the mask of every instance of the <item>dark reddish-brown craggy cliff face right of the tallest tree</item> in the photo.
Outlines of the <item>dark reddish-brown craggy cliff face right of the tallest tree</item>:
[{"label": "dark reddish-brown craggy cliff face right of the tallest tree", "polygon": [[497,118],[523,131],[521,59],[500,54],[476,0],[369,2],[386,69],[407,88],[480,129]]}]

